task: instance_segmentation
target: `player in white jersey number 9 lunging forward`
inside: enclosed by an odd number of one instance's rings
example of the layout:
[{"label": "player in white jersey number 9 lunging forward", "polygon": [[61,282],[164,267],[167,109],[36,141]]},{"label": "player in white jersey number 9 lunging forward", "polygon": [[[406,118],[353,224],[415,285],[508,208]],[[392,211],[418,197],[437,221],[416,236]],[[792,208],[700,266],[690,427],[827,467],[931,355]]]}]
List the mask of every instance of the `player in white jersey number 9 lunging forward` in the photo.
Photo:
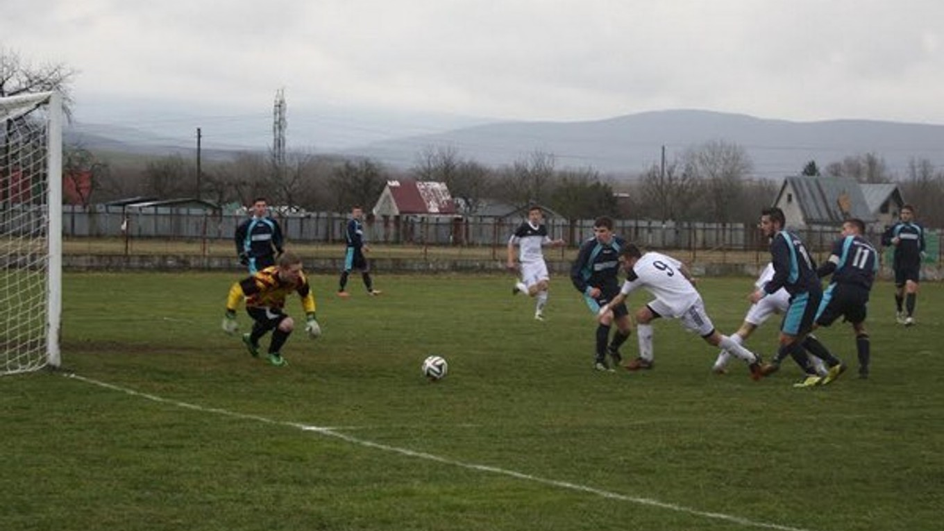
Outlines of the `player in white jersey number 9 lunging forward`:
[{"label": "player in white jersey number 9 lunging forward", "polygon": [[619,295],[600,308],[600,317],[639,288],[645,288],[655,297],[635,313],[639,357],[627,364],[626,368],[630,370],[652,368],[654,352],[650,323],[659,317],[666,317],[679,319],[685,329],[698,332],[710,345],[730,351],[734,356],[747,362],[752,379],[762,378],[760,357],[715,329],[711,318],[705,312],[701,295],[692,283],[692,276],[681,262],[658,252],[643,254],[633,244],[628,244],[623,248],[619,255],[619,262],[626,270],[626,282],[619,290]]}]

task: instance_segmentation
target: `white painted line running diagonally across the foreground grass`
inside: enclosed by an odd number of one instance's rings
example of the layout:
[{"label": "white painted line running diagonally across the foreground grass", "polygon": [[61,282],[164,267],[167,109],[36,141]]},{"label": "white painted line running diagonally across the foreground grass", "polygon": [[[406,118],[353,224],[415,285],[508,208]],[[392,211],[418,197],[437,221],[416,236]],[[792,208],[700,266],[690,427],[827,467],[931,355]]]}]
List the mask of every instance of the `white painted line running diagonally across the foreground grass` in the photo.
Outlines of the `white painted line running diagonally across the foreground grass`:
[{"label": "white painted line running diagonally across the foreground grass", "polygon": [[759,527],[759,528],[763,528],[763,529],[778,529],[778,530],[780,530],[780,531],[814,531],[814,530],[812,530],[812,529],[805,529],[805,528],[802,528],[802,527],[792,527],[792,526],[789,526],[789,525],[781,525],[781,524],[779,524],[779,523],[758,522],[758,521],[755,521],[755,520],[750,520],[750,519],[747,519],[747,518],[741,518],[741,517],[738,517],[738,516],[733,516],[733,515],[724,514],[724,513],[716,513],[716,512],[702,511],[702,510],[695,509],[695,508],[692,508],[692,507],[686,507],[686,506],[684,506],[684,505],[668,504],[668,503],[666,503],[666,502],[660,502],[660,501],[658,501],[658,500],[652,500],[652,499],[650,499],[650,498],[640,498],[640,497],[637,497],[637,496],[629,496],[629,495],[626,495],[626,494],[620,494],[620,493],[618,493],[618,492],[611,492],[611,491],[609,491],[609,490],[603,490],[603,489],[600,489],[600,488],[588,487],[588,486],[586,486],[586,485],[580,485],[580,484],[577,484],[577,483],[570,483],[570,482],[568,482],[568,481],[561,481],[561,480],[556,480],[556,479],[548,479],[548,478],[544,478],[544,477],[540,477],[540,476],[535,476],[535,475],[531,475],[531,474],[526,474],[526,473],[523,473],[523,472],[510,471],[510,470],[506,470],[506,469],[500,469],[500,468],[492,467],[492,466],[489,466],[489,465],[479,465],[479,464],[476,464],[476,463],[466,463],[466,462],[464,462],[464,461],[456,461],[456,460],[454,460],[454,459],[449,459],[449,458],[447,458],[447,457],[442,457],[442,456],[435,455],[435,454],[427,454],[427,453],[425,453],[425,452],[416,452],[416,451],[410,450],[410,449],[408,449],[408,448],[400,448],[400,447],[397,447],[397,446],[388,446],[388,445],[386,445],[386,444],[380,444],[379,442],[373,442],[373,441],[366,440],[366,439],[362,439],[362,438],[358,438],[358,437],[351,437],[351,436],[348,436],[348,435],[345,435],[345,434],[342,434],[342,433],[339,433],[339,432],[334,431],[335,428],[329,428],[329,427],[323,427],[323,426],[312,426],[312,425],[309,425],[309,424],[302,424],[302,423],[299,423],[299,422],[288,422],[288,421],[284,421],[284,420],[272,420],[272,419],[267,419],[267,418],[265,418],[265,417],[261,417],[261,416],[259,416],[259,415],[248,415],[248,414],[245,414],[245,413],[238,413],[238,412],[235,412],[235,411],[229,411],[229,410],[227,410],[227,409],[220,409],[220,408],[216,408],[216,407],[203,407],[203,406],[201,406],[201,405],[197,405],[197,404],[194,404],[194,403],[179,402],[179,401],[176,401],[176,400],[166,399],[166,398],[159,397],[159,396],[156,396],[156,395],[150,395],[150,394],[147,394],[147,393],[142,393],[142,392],[140,392],[140,391],[135,391],[134,389],[129,389],[129,388],[127,388],[127,387],[122,387],[122,386],[120,386],[120,385],[113,385],[113,384],[108,384],[108,383],[106,383],[106,382],[100,382],[100,381],[94,380],[94,379],[92,379],[92,378],[86,378],[86,377],[84,377],[84,376],[79,376],[78,374],[75,374],[75,373],[68,373],[68,374],[65,374],[64,376],[67,377],[67,378],[72,378],[72,379],[75,379],[75,380],[80,380],[80,381],[85,382],[85,383],[88,383],[88,384],[98,385],[98,386],[100,386],[100,387],[105,387],[105,388],[108,388],[108,389],[111,389],[111,390],[120,391],[120,392],[126,393],[127,395],[131,395],[131,396],[135,396],[135,397],[140,397],[140,398],[143,398],[143,399],[147,399],[147,400],[149,400],[149,401],[152,401],[152,402],[168,403],[168,404],[171,404],[171,405],[176,405],[177,407],[182,407],[182,408],[184,408],[184,409],[192,409],[192,410],[194,410],[194,411],[201,411],[201,412],[204,412],[204,413],[213,413],[213,414],[215,414],[215,415],[221,415],[221,416],[230,417],[230,418],[233,418],[233,419],[256,420],[256,421],[258,421],[258,422],[263,422],[263,423],[266,423],[266,424],[273,424],[273,425],[278,425],[278,426],[288,426],[288,427],[292,427],[292,428],[301,430],[301,431],[303,431],[303,432],[313,432],[313,433],[316,433],[316,434],[319,434],[319,435],[323,435],[323,436],[335,437],[335,438],[344,440],[344,441],[346,441],[346,442],[349,442],[349,443],[351,443],[351,444],[356,444],[356,445],[358,445],[358,446],[363,446],[363,447],[366,447],[366,448],[374,448],[374,449],[377,449],[377,450],[382,450],[382,451],[384,451],[384,452],[391,452],[391,453],[394,453],[394,454],[401,454],[401,455],[407,455],[407,456],[409,456],[409,457],[416,457],[416,458],[419,458],[419,459],[426,459],[426,460],[429,460],[429,461],[435,461],[435,462],[437,462],[437,463],[443,463],[444,465],[452,465],[452,466],[455,466],[455,467],[461,467],[461,468],[469,469],[469,470],[473,470],[473,471],[491,472],[491,473],[495,473],[495,474],[499,474],[499,475],[505,475],[505,476],[509,476],[509,477],[514,477],[514,478],[516,478],[516,479],[521,479],[521,480],[524,480],[524,481],[530,481],[530,482],[532,482],[532,483],[540,483],[540,484],[542,484],[542,485],[549,485],[549,486],[557,487],[557,488],[566,488],[566,489],[568,489],[568,490],[576,490],[576,491],[579,491],[579,492],[586,492],[586,493],[588,493],[588,494],[594,494],[594,495],[599,496],[599,497],[601,497],[601,498],[606,498],[606,499],[610,499],[610,500],[619,500],[619,501],[623,501],[623,502],[630,502],[630,503],[636,504],[636,505],[648,505],[648,506],[650,506],[650,507],[659,507],[659,508],[662,508],[662,509],[667,509],[667,510],[670,510],[670,511],[681,512],[681,513],[685,513],[685,514],[690,514],[690,515],[692,515],[692,516],[699,516],[699,517],[707,518],[707,519],[711,519],[711,520],[721,520],[721,521],[724,521],[724,522],[732,522],[732,523],[736,523],[736,524],[738,524],[738,525],[743,525],[743,526],[745,526],[745,527]]}]

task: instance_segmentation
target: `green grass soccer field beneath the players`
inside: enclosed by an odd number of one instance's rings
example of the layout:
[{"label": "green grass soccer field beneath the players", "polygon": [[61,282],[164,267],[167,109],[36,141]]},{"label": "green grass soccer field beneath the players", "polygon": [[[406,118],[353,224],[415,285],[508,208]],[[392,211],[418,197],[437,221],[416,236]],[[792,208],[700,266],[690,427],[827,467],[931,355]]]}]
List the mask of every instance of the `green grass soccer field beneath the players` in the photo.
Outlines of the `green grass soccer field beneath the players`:
[{"label": "green grass soccer field beneath the players", "polygon": [[[339,300],[314,275],[324,335],[293,334],[273,368],[220,330],[234,280],[66,274],[63,369],[0,378],[0,529],[941,526],[942,284],[921,284],[910,329],[876,285],[871,379],[837,323],[818,336],[851,369],[795,389],[789,361],[762,382],[711,373],[716,350],[674,321],[653,370],[596,372],[594,318],[561,277],[538,322],[510,276],[381,274],[377,298],[355,276]],[[751,283],[700,282],[722,332]],[[769,357],[777,322],[748,346]]]}]

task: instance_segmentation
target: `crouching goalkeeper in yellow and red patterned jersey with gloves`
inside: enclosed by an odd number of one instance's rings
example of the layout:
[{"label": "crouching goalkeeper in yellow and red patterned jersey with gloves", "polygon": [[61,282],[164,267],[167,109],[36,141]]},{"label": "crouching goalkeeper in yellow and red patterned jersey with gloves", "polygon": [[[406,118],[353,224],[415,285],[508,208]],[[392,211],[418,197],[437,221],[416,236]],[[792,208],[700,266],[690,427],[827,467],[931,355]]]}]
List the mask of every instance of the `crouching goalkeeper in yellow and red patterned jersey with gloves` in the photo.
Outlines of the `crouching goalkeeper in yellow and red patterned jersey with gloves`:
[{"label": "crouching goalkeeper in yellow and red patterned jersey with gloves", "polygon": [[321,335],[321,327],[314,318],[314,295],[312,286],[301,268],[301,258],[294,252],[285,252],[278,263],[234,283],[229,288],[227,314],[223,318],[223,331],[233,334],[239,330],[236,308],[245,299],[245,311],[252,317],[252,332],[243,334],[246,349],[253,357],[259,357],[259,340],[272,331],[269,342],[269,363],[276,367],[288,365],[280,351],[295,329],[295,321],[284,312],[285,298],[293,292],[301,298],[307,323],[305,332],[312,337]]}]

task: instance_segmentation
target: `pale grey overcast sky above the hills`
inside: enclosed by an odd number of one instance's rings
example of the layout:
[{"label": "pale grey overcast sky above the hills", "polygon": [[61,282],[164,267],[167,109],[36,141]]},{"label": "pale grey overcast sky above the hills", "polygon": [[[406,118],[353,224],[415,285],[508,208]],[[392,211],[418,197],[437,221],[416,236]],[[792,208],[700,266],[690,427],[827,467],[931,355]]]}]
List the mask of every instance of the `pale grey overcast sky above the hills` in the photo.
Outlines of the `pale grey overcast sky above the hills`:
[{"label": "pale grey overcast sky above the hills", "polygon": [[[944,124],[941,0],[5,0],[76,113],[369,109],[577,121],[702,109]],[[83,107],[84,106],[84,107]],[[198,111],[199,110],[199,111]]]}]

